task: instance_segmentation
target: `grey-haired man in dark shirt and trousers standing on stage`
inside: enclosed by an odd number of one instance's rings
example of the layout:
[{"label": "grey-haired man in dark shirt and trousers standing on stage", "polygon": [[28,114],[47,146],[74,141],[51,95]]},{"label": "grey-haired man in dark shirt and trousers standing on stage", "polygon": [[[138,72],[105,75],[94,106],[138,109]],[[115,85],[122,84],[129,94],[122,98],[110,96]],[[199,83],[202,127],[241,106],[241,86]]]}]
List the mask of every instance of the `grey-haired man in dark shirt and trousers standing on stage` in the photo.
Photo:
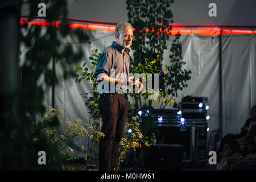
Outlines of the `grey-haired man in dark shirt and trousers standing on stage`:
[{"label": "grey-haired man in dark shirt and trousers standing on stage", "polygon": [[[123,136],[128,113],[128,97],[125,90],[127,87],[123,85],[136,85],[139,92],[143,88],[139,80],[133,81],[133,77],[129,77],[130,57],[126,50],[130,48],[134,39],[131,24],[118,23],[115,27],[115,39],[115,42],[98,57],[94,73],[98,82],[104,80],[105,83],[112,85],[112,89],[105,89],[104,93],[100,94],[99,107],[103,122],[101,132],[105,134],[105,137],[100,139],[99,146],[100,171],[113,170],[117,162],[119,142]],[[115,89],[115,86],[114,92],[113,85],[118,85],[118,89]],[[117,92],[120,90],[122,92]]]}]

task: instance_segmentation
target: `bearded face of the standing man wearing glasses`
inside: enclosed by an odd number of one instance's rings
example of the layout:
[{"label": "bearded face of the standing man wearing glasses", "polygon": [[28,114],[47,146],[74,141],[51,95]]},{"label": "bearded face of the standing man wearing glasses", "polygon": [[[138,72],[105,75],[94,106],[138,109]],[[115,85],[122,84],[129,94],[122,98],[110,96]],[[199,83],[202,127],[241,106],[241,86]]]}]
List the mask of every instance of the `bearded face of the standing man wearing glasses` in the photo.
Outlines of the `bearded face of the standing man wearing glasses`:
[{"label": "bearded face of the standing man wearing glasses", "polygon": [[131,42],[133,42],[133,29],[131,27],[124,27],[122,32],[117,34],[116,43],[127,49],[131,46]]}]

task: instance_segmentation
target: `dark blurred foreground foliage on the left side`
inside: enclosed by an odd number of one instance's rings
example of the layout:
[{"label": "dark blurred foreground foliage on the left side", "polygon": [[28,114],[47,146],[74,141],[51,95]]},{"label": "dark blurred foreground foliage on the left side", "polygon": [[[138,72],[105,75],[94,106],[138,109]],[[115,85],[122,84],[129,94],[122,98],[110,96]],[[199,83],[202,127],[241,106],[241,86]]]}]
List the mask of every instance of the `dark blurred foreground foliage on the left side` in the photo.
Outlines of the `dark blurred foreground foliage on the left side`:
[{"label": "dark blurred foreground foliage on the left side", "polygon": [[[46,111],[43,85],[37,84],[37,81],[40,77],[44,85],[55,86],[58,83],[55,64],[61,65],[61,77],[71,76],[72,64],[82,59],[82,48],[64,44],[63,40],[71,38],[84,41],[88,40],[88,35],[80,29],[69,27],[67,0],[27,1],[30,10],[28,22],[36,18],[38,4],[41,2],[46,3],[46,21],[52,26],[25,23],[20,27],[20,45],[25,46],[27,52],[22,65],[22,90],[16,93],[19,97],[19,117],[15,123],[7,123],[8,126],[0,130],[0,169],[4,170],[63,169],[63,158],[58,148],[44,132],[46,128],[58,126],[57,118],[44,124],[32,125],[31,117]],[[30,113],[30,117],[27,113]],[[38,152],[42,150],[46,151],[46,165],[38,164]]]}]

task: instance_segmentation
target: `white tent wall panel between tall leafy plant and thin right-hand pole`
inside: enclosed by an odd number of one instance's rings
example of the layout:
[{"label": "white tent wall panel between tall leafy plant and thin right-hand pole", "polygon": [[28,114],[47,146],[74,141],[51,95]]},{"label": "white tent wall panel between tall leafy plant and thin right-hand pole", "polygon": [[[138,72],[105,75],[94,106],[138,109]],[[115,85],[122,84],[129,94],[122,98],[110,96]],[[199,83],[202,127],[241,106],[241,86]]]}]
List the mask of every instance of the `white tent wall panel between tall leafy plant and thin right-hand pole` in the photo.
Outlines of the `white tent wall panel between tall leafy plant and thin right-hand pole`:
[{"label": "white tent wall panel between tall leafy plant and thin right-hand pole", "polygon": [[[217,35],[196,34],[181,35],[184,69],[191,69],[188,87],[178,92],[175,102],[180,103],[185,96],[208,97],[208,115],[210,115],[208,133],[216,130],[220,123],[220,82],[219,74],[219,38]],[[168,50],[170,50],[171,43]],[[168,61],[169,52],[165,52],[164,63]],[[170,108],[172,106],[169,106]],[[209,134],[208,134],[209,138]]]}]

